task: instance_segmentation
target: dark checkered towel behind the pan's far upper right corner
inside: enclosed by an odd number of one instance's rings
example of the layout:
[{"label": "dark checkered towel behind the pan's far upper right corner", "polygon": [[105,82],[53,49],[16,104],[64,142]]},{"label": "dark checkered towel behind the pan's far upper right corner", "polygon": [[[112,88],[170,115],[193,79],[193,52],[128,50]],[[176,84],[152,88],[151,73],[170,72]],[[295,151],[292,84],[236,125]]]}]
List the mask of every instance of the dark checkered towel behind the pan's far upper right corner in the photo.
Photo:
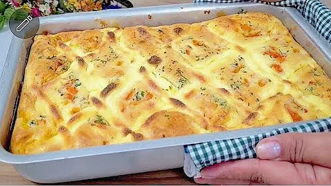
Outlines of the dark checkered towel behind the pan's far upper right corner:
[{"label": "dark checkered towel behind the pan's far upper right corner", "polygon": [[[199,2],[234,3],[248,0],[194,0]],[[273,6],[291,6],[297,8],[302,16],[316,28],[316,30],[331,43],[331,11],[319,0],[283,0],[278,2],[264,2],[251,0],[256,3],[265,3]],[[331,1],[331,0],[330,0]]]}]

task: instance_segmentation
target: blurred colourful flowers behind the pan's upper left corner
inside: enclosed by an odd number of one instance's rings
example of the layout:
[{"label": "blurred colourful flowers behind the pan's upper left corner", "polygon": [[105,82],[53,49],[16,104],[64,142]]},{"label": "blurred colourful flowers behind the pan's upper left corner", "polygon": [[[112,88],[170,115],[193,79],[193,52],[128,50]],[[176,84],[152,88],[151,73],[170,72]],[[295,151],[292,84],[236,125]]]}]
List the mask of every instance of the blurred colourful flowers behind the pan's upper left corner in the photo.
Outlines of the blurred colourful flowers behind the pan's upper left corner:
[{"label": "blurred colourful flowers behind the pan's upper left corner", "polygon": [[88,12],[106,9],[132,8],[128,0],[0,0],[0,30],[10,15],[19,8],[28,8],[33,17]]}]

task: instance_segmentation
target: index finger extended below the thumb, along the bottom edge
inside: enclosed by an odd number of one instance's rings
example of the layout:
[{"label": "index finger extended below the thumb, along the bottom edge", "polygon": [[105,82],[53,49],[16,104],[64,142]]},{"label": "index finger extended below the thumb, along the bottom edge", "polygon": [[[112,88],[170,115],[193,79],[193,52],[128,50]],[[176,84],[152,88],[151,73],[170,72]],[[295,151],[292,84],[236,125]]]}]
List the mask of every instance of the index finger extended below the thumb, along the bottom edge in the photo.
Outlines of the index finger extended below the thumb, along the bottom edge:
[{"label": "index finger extended below the thumb, along the bottom edge", "polygon": [[330,184],[331,169],[318,165],[244,159],[219,163],[201,171],[203,180],[223,180],[219,184],[233,184],[226,180],[241,180],[239,183],[271,185]]}]

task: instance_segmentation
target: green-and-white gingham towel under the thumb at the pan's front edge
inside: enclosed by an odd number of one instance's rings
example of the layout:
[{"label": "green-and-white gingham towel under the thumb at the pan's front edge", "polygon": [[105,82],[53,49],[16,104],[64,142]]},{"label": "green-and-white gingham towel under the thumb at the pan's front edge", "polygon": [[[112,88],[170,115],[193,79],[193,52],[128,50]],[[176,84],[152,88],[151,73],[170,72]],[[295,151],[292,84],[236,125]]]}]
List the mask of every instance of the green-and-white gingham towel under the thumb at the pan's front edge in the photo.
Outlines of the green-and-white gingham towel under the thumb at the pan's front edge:
[{"label": "green-and-white gingham towel under the thumb at the pan's front edge", "polygon": [[263,138],[288,132],[330,132],[331,117],[304,123],[294,127],[284,127],[265,134],[232,138],[222,141],[210,141],[194,145],[185,145],[184,172],[189,177],[201,177],[200,171],[204,167],[230,160],[256,158],[255,146]]}]

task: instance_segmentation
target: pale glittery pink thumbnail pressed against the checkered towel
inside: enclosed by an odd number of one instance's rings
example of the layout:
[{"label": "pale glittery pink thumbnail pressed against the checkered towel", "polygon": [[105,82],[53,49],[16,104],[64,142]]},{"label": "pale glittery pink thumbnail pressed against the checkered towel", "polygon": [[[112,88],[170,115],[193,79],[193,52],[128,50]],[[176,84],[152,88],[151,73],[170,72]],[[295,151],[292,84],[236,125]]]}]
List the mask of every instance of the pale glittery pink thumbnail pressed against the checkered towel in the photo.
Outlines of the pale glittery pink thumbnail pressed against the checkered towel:
[{"label": "pale glittery pink thumbnail pressed against the checkered towel", "polygon": [[257,157],[265,160],[273,160],[281,156],[281,145],[278,141],[261,141],[257,144]]}]

